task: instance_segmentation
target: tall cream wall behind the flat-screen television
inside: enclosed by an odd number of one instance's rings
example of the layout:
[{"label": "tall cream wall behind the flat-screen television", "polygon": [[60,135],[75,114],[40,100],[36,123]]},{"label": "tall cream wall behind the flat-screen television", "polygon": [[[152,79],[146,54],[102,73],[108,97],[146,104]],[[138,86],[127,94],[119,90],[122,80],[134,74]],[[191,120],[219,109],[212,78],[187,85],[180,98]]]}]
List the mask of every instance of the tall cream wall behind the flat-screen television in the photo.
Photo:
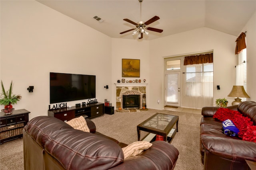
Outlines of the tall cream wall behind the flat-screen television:
[{"label": "tall cream wall behind the flat-screen television", "polygon": [[113,83],[110,37],[36,1],[0,3],[0,79],[6,88],[13,80],[13,93],[22,95],[15,109],[27,109],[30,119],[48,115],[49,72],[96,75],[98,102],[111,97],[104,88]]}]

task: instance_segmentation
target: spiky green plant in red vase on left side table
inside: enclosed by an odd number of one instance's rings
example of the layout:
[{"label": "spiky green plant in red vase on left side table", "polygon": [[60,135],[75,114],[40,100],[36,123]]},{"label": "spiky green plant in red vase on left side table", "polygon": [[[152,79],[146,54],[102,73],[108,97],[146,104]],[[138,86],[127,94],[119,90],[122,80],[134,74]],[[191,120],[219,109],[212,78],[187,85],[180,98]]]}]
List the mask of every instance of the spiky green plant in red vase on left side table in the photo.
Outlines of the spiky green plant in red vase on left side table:
[{"label": "spiky green plant in red vase on left side table", "polygon": [[16,104],[22,97],[20,95],[12,94],[12,82],[10,84],[9,90],[4,89],[4,84],[1,80],[2,92],[0,96],[0,105],[4,105],[4,109],[2,111],[4,113],[11,114],[14,108],[12,108],[12,104]]}]

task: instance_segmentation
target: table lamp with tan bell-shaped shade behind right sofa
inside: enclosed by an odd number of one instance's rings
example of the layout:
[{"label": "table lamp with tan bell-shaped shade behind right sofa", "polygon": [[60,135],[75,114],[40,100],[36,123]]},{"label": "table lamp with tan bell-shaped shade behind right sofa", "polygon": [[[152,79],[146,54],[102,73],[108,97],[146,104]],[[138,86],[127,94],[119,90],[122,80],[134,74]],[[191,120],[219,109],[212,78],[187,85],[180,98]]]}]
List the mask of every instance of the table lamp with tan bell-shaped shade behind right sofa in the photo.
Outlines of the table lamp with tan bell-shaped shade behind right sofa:
[{"label": "table lamp with tan bell-shaped shade behind right sofa", "polygon": [[228,94],[229,97],[237,97],[235,100],[232,102],[232,106],[238,105],[241,103],[240,98],[250,98],[248,94],[244,90],[244,86],[233,86],[230,94]]}]

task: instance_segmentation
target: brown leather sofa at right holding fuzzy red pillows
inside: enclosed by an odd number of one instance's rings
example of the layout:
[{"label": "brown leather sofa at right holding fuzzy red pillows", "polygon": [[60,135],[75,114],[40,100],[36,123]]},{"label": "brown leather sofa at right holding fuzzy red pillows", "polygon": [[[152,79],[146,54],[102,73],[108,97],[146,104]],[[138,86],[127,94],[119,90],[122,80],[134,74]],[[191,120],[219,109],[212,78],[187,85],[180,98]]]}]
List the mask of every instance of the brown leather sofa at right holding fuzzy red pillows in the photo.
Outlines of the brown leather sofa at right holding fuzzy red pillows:
[{"label": "brown leather sofa at right holding fuzzy red pillows", "polygon": [[[218,108],[202,108],[200,152],[204,170],[249,170],[245,160],[256,162],[256,143],[222,133],[222,121],[213,118]],[[256,125],[256,102],[227,108],[239,111]]]}]

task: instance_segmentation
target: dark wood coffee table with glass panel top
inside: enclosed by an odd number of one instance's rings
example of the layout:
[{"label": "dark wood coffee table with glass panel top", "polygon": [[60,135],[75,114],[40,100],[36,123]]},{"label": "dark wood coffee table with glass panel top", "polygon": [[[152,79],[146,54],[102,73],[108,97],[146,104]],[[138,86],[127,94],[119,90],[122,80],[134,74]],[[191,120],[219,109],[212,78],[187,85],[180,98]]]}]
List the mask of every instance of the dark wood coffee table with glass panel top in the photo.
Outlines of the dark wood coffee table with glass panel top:
[{"label": "dark wood coffee table with glass panel top", "polygon": [[[156,113],[150,118],[146,119],[137,125],[138,141],[140,141],[140,131],[149,132],[164,137],[164,141],[171,142],[176,132],[178,132],[179,117],[174,115],[167,115],[164,113]],[[173,129],[176,123],[176,129]],[[169,135],[169,133],[171,134]],[[146,137],[148,136],[146,135]],[[143,139],[145,139],[144,137]],[[143,140],[142,139],[142,140]]]}]

